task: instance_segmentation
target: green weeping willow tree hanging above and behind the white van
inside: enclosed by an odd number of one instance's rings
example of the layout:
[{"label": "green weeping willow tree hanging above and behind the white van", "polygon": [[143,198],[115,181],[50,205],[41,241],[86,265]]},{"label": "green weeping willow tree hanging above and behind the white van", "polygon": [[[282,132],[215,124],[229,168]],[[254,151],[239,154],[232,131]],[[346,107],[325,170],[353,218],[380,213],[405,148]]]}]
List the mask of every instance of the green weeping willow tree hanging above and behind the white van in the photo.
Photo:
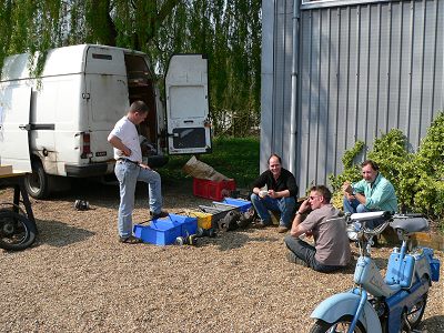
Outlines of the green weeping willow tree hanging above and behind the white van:
[{"label": "green weeping willow tree hanging above and behind the white van", "polygon": [[[214,130],[233,117],[248,134],[260,119],[261,0],[3,0],[0,63],[13,53],[99,43],[141,50],[163,73],[173,53],[205,53]],[[162,80],[160,81],[162,82]]]}]

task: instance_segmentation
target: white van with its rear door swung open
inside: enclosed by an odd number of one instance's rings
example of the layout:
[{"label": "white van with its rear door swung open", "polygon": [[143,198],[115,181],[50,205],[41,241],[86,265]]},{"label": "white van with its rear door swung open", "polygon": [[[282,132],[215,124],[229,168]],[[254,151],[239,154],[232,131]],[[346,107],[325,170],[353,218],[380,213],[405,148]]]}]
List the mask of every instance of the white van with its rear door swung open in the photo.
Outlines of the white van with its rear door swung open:
[{"label": "white van with its rear door swung open", "polygon": [[[81,44],[49,51],[42,74],[30,71],[29,54],[4,60],[0,80],[0,161],[32,172],[27,190],[46,198],[63,178],[113,172],[107,141],[134,100],[150,113],[140,125],[144,159],[153,168],[169,154],[211,151],[208,59],[176,54],[165,75],[165,104],[145,53]],[[165,112],[167,110],[167,112]]]}]

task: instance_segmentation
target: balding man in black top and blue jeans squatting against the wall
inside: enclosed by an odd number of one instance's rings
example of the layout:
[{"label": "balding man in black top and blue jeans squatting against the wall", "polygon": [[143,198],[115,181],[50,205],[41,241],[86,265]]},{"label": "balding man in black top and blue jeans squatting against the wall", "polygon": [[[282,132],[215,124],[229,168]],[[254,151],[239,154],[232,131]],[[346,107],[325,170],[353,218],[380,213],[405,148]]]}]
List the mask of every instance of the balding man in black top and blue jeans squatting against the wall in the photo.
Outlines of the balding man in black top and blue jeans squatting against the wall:
[{"label": "balding man in black top and blue jeans squatting against the wall", "polygon": [[[261,190],[266,185],[266,191]],[[260,228],[271,225],[270,211],[281,213],[278,232],[286,232],[291,226],[294,206],[296,204],[297,185],[294,175],[282,168],[282,160],[278,154],[269,158],[269,170],[263,172],[253,182],[251,202],[256,210],[261,222]]]}]

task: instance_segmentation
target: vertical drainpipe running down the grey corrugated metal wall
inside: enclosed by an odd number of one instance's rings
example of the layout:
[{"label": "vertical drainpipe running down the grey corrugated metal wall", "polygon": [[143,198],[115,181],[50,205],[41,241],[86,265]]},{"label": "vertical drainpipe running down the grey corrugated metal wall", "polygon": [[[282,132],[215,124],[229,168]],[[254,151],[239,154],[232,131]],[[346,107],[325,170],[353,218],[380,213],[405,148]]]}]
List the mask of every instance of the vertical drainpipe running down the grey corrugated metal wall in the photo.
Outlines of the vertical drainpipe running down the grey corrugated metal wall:
[{"label": "vertical drainpipe running down the grey corrugated metal wall", "polygon": [[301,0],[293,1],[293,53],[292,53],[292,83],[290,104],[290,154],[289,169],[296,175],[296,111],[297,111],[297,75],[299,75],[299,27],[301,18]]}]

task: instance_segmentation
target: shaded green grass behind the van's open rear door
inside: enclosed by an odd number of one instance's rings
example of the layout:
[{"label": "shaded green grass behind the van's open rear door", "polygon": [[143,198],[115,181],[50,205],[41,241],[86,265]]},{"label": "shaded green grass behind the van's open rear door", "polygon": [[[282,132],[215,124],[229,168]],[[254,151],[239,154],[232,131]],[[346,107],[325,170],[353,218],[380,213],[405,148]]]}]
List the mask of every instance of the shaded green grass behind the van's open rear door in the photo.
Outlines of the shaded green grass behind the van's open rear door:
[{"label": "shaded green grass behind the van's open rear door", "polygon": [[[233,178],[238,188],[249,188],[259,175],[259,138],[216,138],[213,152],[196,158],[213,167],[218,172]],[[183,181],[188,176],[182,167],[191,155],[170,155],[170,161],[158,171],[162,180]]]}]

